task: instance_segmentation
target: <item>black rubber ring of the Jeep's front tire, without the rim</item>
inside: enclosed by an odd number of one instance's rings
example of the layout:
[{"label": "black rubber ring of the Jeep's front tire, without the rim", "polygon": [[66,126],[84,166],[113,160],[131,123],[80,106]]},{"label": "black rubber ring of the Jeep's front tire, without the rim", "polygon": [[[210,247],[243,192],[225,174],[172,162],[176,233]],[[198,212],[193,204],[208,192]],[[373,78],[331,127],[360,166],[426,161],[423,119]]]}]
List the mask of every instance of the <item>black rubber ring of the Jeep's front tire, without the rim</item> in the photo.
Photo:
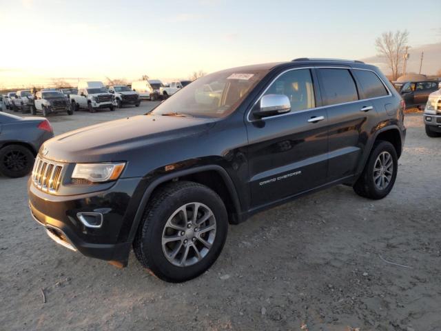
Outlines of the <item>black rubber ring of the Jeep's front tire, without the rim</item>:
[{"label": "black rubber ring of the Jeep's front tire, without the rim", "polygon": [[[208,254],[198,263],[187,267],[178,267],[164,256],[162,235],[169,217],[186,203],[200,202],[209,207],[216,218],[216,239]],[[152,222],[141,241],[141,249],[149,261],[150,269],[161,279],[167,281],[187,281],[207,270],[218,258],[227,237],[227,212],[218,195],[209,188],[183,188],[163,200],[155,210],[147,212],[146,223]]]}]

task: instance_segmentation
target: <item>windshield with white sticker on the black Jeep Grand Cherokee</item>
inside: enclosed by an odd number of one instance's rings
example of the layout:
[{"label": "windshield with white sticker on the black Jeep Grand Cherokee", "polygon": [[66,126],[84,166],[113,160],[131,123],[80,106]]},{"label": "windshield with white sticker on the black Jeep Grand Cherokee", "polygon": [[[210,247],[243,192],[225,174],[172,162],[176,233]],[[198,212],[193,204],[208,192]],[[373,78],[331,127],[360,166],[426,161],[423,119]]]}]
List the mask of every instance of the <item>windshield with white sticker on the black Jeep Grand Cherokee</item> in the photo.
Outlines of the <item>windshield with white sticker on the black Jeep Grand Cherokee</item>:
[{"label": "windshield with white sticker on the black Jeep Grand Cherokee", "polygon": [[225,70],[196,79],[181,92],[161,103],[152,114],[192,117],[225,117],[230,114],[267,70]]}]

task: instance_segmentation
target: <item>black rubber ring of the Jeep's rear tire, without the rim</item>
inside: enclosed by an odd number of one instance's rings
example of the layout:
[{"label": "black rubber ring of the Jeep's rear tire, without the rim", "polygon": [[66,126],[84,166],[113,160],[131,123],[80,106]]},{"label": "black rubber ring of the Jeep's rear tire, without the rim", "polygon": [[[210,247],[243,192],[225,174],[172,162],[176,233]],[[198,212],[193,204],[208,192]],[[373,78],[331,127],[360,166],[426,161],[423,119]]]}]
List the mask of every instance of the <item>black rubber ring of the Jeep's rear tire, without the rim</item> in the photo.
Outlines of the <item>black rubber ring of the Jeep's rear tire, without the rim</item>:
[{"label": "black rubber ring of the Jeep's rear tire, without the rim", "polygon": [[[380,190],[376,187],[375,182],[373,180],[373,167],[375,166],[376,159],[378,155],[382,152],[389,152],[392,156],[393,161],[393,174],[391,181],[387,188],[384,190]],[[371,156],[369,157],[369,162],[367,164],[367,185],[369,185],[369,190],[373,193],[374,199],[382,199],[391,192],[393,185],[395,184],[397,173],[398,173],[398,156],[395,148],[389,141],[382,141],[378,143],[378,145],[371,152]]]}]

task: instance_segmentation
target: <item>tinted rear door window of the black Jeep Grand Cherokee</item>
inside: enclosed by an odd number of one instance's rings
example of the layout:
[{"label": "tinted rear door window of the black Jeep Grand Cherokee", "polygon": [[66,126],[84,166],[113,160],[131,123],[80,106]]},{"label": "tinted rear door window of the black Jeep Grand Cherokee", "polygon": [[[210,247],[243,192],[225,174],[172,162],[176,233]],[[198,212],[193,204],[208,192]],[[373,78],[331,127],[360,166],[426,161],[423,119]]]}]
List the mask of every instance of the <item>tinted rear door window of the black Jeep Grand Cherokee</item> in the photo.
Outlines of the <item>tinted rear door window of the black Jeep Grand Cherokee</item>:
[{"label": "tinted rear door window of the black Jeep Grand Cherokee", "polygon": [[318,69],[325,106],[358,100],[356,83],[347,69]]}]

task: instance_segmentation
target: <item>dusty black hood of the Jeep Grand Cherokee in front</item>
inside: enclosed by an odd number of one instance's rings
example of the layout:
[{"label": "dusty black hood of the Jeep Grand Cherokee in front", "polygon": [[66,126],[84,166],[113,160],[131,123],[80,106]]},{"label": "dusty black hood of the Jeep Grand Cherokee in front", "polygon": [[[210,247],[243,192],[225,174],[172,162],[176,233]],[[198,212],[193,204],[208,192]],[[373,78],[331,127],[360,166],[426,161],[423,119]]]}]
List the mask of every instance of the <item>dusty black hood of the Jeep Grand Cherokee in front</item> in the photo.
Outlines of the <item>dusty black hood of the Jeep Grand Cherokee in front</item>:
[{"label": "dusty black hood of the Jeep Grand Cherokee in front", "polygon": [[208,130],[213,119],[140,115],[88,126],[46,141],[45,158],[60,162],[128,161],[136,150]]}]

